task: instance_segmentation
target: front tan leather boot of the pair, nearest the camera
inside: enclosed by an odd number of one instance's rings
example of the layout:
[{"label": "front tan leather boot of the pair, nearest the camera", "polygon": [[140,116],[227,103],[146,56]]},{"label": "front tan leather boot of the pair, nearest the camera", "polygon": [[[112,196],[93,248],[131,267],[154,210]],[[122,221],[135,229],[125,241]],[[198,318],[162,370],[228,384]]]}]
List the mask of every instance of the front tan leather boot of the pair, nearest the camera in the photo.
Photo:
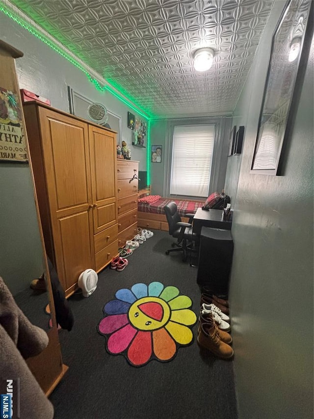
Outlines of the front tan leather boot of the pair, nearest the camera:
[{"label": "front tan leather boot of the pair, nearest the camera", "polygon": [[230,359],[234,355],[234,350],[219,338],[217,329],[214,323],[202,323],[197,343],[219,358]]}]

